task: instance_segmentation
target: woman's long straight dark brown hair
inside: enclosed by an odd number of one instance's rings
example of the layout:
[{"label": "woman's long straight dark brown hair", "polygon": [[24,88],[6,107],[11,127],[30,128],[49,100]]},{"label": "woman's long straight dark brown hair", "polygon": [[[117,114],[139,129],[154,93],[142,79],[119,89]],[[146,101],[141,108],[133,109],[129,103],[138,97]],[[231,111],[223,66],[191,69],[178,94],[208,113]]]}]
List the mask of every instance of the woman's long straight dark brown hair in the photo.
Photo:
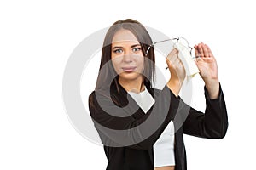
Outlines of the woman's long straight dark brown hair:
[{"label": "woman's long straight dark brown hair", "polygon": [[[118,84],[118,75],[113,69],[111,60],[111,48],[114,34],[121,30],[125,29],[131,31],[132,34],[137,38],[137,41],[140,43],[145,56],[148,47],[152,44],[152,39],[148,34],[146,28],[139,23],[137,20],[126,19],[118,20],[113,23],[112,26],[108,29],[108,32],[105,36],[103,47],[102,47],[102,59],[100,65],[99,75],[96,82],[96,90],[104,89],[104,86],[109,82],[115,82],[116,88],[119,90]],[[154,58],[154,47],[150,48],[147,56],[148,59],[144,59],[144,71],[143,71],[143,84],[147,88],[154,88],[154,78],[155,78],[155,58]],[[142,85],[143,85],[142,84]]]}]

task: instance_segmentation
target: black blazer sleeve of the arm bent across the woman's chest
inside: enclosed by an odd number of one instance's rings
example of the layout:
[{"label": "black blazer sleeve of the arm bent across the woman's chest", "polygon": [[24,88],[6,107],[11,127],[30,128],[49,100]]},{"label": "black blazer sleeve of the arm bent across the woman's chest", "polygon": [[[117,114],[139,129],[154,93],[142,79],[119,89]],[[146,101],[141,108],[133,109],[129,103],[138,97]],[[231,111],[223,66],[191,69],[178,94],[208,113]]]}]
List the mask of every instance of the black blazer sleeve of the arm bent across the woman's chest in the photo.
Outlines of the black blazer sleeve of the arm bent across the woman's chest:
[{"label": "black blazer sleeve of the arm bent across the woman's chest", "polygon": [[[102,144],[138,150],[148,150],[153,146],[175,116],[179,103],[179,99],[165,86],[146,114],[138,109],[131,116],[113,116],[106,111],[114,112],[113,101],[104,95],[97,95],[100,97],[96,98],[96,92],[90,94],[89,110]],[[98,99],[103,100],[105,109],[99,105]]]}]

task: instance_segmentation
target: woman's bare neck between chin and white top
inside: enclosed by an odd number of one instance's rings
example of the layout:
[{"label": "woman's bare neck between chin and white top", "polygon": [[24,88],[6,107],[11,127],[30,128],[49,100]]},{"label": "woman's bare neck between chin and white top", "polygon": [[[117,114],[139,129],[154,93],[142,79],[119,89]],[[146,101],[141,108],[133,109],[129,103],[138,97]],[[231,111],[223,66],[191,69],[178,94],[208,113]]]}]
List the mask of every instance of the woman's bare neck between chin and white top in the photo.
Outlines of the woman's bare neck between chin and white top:
[{"label": "woman's bare neck between chin and white top", "polygon": [[119,78],[119,84],[125,88],[127,92],[139,93],[145,89],[143,83],[143,77],[137,78],[135,80],[124,80]]}]

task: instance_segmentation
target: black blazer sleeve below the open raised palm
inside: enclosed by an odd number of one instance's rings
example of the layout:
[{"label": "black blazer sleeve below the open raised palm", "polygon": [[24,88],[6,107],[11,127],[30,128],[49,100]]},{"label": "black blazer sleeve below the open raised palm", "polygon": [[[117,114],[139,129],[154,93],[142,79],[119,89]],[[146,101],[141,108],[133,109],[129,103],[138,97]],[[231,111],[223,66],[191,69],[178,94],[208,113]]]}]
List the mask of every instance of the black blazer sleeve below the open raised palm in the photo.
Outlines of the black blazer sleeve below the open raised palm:
[{"label": "black blazer sleeve below the open raised palm", "polygon": [[228,129],[228,115],[224,94],[219,85],[217,99],[210,99],[205,87],[205,113],[190,108],[189,115],[183,123],[183,133],[208,139],[223,139]]}]

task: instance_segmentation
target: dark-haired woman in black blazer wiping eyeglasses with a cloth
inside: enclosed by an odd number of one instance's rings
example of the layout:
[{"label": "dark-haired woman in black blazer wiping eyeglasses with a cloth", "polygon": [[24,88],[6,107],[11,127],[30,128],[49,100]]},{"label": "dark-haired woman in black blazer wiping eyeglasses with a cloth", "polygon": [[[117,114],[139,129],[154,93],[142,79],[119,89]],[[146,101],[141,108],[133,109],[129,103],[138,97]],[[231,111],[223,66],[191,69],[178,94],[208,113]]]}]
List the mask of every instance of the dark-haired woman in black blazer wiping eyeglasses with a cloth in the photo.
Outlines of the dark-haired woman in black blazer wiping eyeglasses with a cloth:
[{"label": "dark-haired woman in black blazer wiping eyeglasses with a cloth", "polygon": [[178,96],[185,71],[177,49],[166,57],[170,80],[162,90],[154,89],[154,48],[147,52],[151,44],[148,31],[136,20],[119,20],[106,34],[89,107],[109,170],[184,170],[183,133],[222,139],[227,131],[224,95],[210,48],[195,45],[195,56],[200,56],[196,64],[205,82],[204,114]]}]

